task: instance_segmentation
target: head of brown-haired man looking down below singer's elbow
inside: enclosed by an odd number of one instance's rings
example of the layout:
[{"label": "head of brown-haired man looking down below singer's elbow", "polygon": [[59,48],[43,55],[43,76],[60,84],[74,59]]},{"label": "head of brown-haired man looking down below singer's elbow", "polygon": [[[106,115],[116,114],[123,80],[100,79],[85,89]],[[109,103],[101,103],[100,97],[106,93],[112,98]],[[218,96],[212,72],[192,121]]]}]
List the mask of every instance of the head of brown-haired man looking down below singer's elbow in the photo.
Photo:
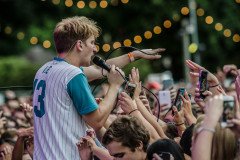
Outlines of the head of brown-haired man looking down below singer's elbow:
[{"label": "head of brown-haired man looking down below singer's elbow", "polygon": [[150,135],[138,119],[117,118],[107,129],[102,142],[109,153],[122,160],[144,160]]}]

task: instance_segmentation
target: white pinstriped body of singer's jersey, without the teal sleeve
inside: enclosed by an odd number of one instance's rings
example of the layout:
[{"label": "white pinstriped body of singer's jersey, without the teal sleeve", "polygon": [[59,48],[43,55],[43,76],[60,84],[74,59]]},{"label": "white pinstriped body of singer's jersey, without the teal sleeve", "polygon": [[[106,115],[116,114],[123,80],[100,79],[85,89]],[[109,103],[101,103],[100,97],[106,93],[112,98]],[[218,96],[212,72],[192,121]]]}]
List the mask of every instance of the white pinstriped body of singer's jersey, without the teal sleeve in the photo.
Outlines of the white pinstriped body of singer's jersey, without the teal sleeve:
[{"label": "white pinstriped body of singer's jersey, without the teal sleeve", "polygon": [[80,159],[76,143],[85,136],[87,127],[67,86],[77,75],[84,75],[80,68],[59,58],[38,70],[33,97],[34,160]]}]

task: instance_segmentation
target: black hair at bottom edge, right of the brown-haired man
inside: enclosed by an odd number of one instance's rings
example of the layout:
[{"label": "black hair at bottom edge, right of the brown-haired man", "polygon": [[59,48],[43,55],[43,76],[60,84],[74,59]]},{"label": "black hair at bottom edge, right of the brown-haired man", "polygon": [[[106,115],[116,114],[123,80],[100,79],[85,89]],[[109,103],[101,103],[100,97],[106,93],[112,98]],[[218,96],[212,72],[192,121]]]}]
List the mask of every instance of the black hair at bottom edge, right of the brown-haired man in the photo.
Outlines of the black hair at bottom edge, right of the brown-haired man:
[{"label": "black hair at bottom edge, right of the brown-haired man", "polygon": [[153,154],[162,152],[170,153],[176,160],[184,160],[184,154],[180,146],[171,139],[160,139],[152,143],[147,149],[147,158],[151,160]]}]

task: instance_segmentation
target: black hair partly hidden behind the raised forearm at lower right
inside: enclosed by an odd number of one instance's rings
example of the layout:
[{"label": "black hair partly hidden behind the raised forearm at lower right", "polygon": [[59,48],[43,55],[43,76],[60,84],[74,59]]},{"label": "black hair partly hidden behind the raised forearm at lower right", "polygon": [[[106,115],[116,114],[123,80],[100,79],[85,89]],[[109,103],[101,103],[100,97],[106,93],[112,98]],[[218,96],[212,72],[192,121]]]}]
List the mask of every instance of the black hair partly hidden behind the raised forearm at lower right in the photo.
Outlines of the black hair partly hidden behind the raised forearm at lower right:
[{"label": "black hair partly hidden behind the raised forearm at lower right", "polygon": [[183,152],[187,155],[191,156],[192,152],[190,150],[192,146],[192,134],[193,134],[193,128],[195,124],[192,124],[182,134],[182,138],[180,140],[180,146],[183,149]]}]

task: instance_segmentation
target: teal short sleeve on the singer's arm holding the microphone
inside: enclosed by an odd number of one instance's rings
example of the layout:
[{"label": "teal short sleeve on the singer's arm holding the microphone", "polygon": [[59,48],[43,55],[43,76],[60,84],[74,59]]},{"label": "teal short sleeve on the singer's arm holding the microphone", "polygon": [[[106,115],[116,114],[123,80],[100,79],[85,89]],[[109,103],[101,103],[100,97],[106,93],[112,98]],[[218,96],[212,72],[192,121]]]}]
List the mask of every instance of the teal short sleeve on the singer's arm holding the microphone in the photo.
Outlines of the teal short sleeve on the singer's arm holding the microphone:
[{"label": "teal short sleeve on the singer's arm holding the microphone", "polygon": [[67,84],[67,92],[80,115],[88,114],[98,108],[84,74],[78,74]]}]

